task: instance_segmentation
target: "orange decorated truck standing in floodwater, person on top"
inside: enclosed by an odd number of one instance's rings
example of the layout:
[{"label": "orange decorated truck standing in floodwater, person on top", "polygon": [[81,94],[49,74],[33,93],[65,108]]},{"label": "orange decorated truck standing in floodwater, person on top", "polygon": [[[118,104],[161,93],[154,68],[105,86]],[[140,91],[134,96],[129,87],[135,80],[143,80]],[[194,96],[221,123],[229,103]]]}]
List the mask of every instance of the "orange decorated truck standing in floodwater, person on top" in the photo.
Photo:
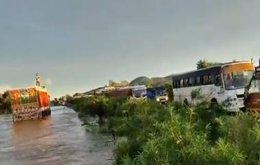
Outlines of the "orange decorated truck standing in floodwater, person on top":
[{"label": "orange decorated truck standing in floodwater, person on top", "polygon": [[17,120],[40,120],[51,115],[49,94],[40,86],[10,90],[12,117]]}]

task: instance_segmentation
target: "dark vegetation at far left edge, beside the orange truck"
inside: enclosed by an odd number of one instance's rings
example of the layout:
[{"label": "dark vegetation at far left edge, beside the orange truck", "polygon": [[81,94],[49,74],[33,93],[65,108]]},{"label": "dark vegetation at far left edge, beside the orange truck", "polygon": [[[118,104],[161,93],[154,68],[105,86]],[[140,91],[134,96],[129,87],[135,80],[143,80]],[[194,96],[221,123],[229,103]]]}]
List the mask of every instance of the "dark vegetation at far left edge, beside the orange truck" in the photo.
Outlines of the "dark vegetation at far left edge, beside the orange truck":
[{"label": "dark vegetation at far left edge, beside the orange truck", "polygon": [[11,114],[11,99],[9,92],[4,92],[0,94],[0,114]]}]

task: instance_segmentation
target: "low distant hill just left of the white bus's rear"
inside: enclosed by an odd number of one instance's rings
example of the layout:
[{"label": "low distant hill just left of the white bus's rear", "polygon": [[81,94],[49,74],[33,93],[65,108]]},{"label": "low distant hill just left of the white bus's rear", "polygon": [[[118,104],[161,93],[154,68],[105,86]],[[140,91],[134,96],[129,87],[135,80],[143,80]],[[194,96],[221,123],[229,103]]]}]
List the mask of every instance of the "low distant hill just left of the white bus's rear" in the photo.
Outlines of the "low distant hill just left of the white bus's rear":
[{"label": "low distant hill just left of the white bus's rear", "polygon": [[166,77],[137,77],[133,79],[133,81],[130,82],[130,86],[135,85],[146,85],[150,87],[159,87],[164,86],[165,84],[171,84],[172,76],[166,76]]}]

